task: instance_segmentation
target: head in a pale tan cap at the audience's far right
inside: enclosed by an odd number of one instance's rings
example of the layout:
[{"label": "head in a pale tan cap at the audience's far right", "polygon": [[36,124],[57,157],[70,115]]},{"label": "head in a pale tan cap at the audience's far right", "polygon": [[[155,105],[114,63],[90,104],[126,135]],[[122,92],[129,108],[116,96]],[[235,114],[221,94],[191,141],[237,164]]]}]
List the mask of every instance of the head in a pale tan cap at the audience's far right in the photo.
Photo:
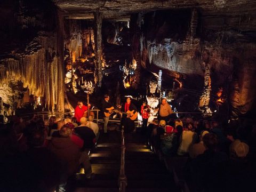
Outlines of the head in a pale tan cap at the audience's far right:
[{"label": "head in a pale tan cap at the audience's far right", "polygon": [[249,153],[249,146],[245,142],[236,139],[231,143],[229,150],[231,158],[244,158]]}]

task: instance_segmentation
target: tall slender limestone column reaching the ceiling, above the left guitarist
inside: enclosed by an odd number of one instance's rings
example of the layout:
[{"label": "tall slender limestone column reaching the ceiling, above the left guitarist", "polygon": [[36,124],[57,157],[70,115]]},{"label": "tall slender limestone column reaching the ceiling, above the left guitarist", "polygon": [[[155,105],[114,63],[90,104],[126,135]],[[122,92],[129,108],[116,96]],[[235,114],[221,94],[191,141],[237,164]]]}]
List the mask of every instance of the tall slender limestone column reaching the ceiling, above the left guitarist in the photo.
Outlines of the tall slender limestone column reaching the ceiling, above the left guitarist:
[{"label": "tall slender limestone column reaching the ceiling, above the left guitarist", "polygon": [[99,87],[101,87],[101,81],[102,81],[102,46],[101,46],[101,26],[102,26],[102,12],[97,10],[97,12],[94,12],[94,42],[95,42],[95,70],[94,70],[94,81],[95,84]]}]

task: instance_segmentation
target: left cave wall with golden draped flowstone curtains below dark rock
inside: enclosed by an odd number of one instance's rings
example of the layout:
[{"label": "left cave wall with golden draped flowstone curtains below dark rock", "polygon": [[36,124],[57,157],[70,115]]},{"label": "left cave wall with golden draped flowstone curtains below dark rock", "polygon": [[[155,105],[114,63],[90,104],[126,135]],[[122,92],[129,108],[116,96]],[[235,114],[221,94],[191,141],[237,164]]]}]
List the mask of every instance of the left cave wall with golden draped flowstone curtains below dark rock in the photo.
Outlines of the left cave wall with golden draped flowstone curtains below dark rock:
[{"label": "left cave wall with golden draped flowstone curtains below dark rock", "polygon": [[[62,13],[51,1],[1,1],[0,7],[1,86],[21,82],[30,94],[43,97],[45,108],[64,111]],[[15,110],[17,99],[4,102]]]}]

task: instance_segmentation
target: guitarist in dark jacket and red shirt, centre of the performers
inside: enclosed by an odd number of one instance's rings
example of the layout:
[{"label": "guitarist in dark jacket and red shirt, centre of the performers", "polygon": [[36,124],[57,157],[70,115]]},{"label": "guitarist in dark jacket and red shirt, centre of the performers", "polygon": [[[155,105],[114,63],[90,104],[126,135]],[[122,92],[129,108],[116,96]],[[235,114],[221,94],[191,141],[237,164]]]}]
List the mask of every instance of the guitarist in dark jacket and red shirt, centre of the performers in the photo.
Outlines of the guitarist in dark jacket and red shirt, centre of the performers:
[{"label": "guitarist in dark jacket and red shirt, centre of the performers", "polygon": [[124,103],[124,105],[121,108],[121,111],[127,113],[127,111],[133,111],[133,113],[130,113],[130,115],[123,114],[122,115],[122,120],[121,120],[121,125],[124,126],[124,132],[126,133],[130,133],[134,130],[134,121],[131,118],[129,118],[129,116],[133,116],[136,112],[137,112],[137,108],[135,107],[135,105],[131,102],[131,98],[127,97],[126,102]]}]

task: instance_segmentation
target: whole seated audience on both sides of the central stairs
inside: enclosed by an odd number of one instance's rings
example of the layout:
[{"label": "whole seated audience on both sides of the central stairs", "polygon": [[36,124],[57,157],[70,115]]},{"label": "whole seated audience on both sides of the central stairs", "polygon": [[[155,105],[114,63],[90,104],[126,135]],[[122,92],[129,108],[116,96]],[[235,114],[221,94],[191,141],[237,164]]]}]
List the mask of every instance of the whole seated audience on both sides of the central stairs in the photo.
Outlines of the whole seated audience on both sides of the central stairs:
[{"label": "whole seated audience on both sides of the central stairs", "polygon": [[[37,116],[28,122],[12,119],[0,124],[1,191],[46,192],[57,186],[57,191],[65,191],[68,177],[79,166],[86,178],[93,177],[86,149],[94,146],[99,127],[91,116],[89,121],[81,118],[80,126],[69,116],[50,117],[48,124]],[[49,133],[52,139],[46,140]],[[236,121],[224,126],[203,118],[172,119],[166,125],[153,119],[146,137],[155,153],[165,158],[188,158],[186,182],[195,191],[255,189],[255,125]]]}]

